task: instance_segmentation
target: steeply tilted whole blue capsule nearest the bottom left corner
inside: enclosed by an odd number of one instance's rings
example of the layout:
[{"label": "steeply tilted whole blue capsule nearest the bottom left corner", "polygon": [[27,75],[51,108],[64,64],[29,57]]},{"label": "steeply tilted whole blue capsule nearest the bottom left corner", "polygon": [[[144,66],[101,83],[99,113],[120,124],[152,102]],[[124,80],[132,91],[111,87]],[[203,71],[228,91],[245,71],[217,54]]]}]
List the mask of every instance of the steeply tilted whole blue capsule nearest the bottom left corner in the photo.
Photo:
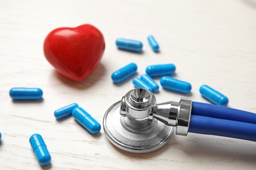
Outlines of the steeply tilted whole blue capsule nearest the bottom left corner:
[{"label": "steeply tilted whole blue capsule nearest the bottom left corner", "polygon": [[33,153],[40,165],[46,166],[51,163],[51,155],[41,135],[33,134],[30,137],[30,145],[32,146]]}]

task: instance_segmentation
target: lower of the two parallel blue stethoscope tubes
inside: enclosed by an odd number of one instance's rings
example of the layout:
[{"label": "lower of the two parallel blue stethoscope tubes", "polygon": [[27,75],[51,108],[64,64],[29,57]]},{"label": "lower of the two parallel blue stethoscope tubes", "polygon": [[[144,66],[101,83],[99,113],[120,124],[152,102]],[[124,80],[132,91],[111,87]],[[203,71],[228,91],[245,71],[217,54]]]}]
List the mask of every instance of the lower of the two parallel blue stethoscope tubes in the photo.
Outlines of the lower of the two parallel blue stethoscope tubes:
[{"label": "lower of the two parallel blue stethoscope tubes", "polygon": [[256,124],[191,115],[188,132],[256,141]]}]

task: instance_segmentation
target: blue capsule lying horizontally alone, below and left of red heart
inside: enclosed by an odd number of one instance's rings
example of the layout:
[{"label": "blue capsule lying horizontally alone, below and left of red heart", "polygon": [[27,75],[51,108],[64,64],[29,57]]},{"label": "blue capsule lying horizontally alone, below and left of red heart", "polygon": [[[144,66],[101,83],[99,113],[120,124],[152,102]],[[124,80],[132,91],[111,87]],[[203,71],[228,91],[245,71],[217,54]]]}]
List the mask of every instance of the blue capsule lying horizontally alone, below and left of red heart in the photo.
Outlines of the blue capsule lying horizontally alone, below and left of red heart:
[{"label": "blue capsule lying horizontally alone, below and left of red heart", "polygon": [[12,88],[9,94],[14,100],[39,100],[43,97],[40,88]]}]

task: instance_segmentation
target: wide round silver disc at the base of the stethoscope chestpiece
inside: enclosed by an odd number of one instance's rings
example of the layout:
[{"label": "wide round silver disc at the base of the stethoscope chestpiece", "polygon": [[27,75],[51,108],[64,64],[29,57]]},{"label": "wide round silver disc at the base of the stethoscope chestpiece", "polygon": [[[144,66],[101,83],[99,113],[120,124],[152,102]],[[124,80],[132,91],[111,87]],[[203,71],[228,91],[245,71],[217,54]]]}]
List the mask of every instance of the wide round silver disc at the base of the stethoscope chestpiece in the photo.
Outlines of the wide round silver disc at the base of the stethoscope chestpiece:
[{"label": "wide round silver disc at the base of the stethoscope chestpiece", "polygon": [[152,152],[164,146],[173,133],[173,127],[153,120],[143,128],[133,128],[119,114],[120,103],[112,105],[104,116],[103,127],[108,140],[128,152]]}]

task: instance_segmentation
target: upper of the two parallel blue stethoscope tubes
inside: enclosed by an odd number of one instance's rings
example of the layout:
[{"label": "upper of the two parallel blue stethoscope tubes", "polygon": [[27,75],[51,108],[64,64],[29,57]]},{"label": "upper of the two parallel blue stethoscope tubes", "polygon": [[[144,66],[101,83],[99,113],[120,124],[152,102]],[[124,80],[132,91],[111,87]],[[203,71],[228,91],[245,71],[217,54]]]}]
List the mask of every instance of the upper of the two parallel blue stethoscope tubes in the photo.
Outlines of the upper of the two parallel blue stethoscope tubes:
[{"label": "upper of the two parallel blue stethoscope tubes", "polygon": [[256,124],[256,114],[208,103],[192,102],[191,114]]}]

